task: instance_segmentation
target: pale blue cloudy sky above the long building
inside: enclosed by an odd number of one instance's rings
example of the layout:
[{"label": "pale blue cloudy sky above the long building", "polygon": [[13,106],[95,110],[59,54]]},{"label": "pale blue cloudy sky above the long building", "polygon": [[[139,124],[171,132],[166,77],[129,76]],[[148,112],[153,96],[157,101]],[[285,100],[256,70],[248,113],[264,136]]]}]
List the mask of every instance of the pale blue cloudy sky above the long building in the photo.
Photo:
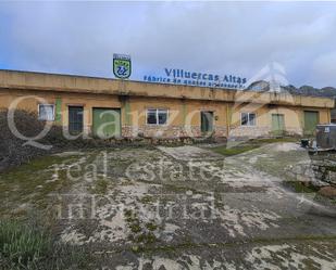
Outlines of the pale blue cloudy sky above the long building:
[{"label": "pale blue cloudy sky above the long building", "polygon": [[336,87],[336,2],[0,2],[0,68],[132,79],[164,67],[270,70],[295,86]]}]

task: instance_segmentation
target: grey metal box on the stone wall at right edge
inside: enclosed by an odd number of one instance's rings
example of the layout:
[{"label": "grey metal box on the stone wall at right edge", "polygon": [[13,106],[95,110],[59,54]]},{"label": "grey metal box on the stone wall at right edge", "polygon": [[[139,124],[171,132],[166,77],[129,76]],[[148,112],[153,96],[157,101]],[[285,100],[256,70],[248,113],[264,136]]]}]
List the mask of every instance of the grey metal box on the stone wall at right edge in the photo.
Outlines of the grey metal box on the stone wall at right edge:
[{"label": "grey metal box on the stone wall at right edge", "polygon": [[321,149],[336,150],[336,124],[316,126],[316,144]]}]

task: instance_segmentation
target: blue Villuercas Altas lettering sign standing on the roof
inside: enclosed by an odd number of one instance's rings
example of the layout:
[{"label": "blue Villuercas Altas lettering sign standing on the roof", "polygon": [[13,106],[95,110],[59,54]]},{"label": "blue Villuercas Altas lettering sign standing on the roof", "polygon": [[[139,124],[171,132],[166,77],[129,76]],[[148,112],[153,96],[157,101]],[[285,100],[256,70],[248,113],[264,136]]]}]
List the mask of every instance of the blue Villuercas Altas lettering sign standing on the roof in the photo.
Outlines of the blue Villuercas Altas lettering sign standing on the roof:
[{"label": "blue Villuercas Altas lettering sign standing on the roof", "polygon": [[199,87],[234,88],[244,89],[246,78],[235,75],[217,75],[210,73],[196,73],[176,68],[164,68],[163,76],[145,75],[148,82],[175,83]]}]

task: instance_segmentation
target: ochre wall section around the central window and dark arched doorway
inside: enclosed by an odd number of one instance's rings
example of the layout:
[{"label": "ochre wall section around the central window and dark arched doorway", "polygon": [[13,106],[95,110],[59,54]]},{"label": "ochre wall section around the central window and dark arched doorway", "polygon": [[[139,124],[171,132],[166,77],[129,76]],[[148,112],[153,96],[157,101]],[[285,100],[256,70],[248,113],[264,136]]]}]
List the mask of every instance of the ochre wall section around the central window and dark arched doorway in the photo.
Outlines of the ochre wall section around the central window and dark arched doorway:
[{"label": "ochre wall section around the central window and dark arched doorway", "polygon": [[[172,99],[144,99],[129,98],[129,119],[124,115],[124,134],[145,137],[163,134],[164,137],[200,137],[200,112],[209,111],[214,115],[214,132],[217,137],[226,136],[226,110],[228,103],[172,100]],[[147,125],[148,108],[165,108],[169,111],[169,123],[166,126]],[[127,114],[125,112],[124,114]]]}]

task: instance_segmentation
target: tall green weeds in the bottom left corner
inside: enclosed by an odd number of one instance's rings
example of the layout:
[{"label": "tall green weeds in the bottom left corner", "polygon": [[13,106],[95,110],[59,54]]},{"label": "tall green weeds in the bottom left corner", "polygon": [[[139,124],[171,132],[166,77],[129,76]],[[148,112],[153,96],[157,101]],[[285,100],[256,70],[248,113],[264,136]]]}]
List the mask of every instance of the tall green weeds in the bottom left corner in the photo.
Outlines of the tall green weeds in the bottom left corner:
[{"label": "tall green weeds in the bottom left corner", "polygon": [[37,226],[0,221],[0,269],[87,269],[90,261],[86,250],[53,241]]}]

